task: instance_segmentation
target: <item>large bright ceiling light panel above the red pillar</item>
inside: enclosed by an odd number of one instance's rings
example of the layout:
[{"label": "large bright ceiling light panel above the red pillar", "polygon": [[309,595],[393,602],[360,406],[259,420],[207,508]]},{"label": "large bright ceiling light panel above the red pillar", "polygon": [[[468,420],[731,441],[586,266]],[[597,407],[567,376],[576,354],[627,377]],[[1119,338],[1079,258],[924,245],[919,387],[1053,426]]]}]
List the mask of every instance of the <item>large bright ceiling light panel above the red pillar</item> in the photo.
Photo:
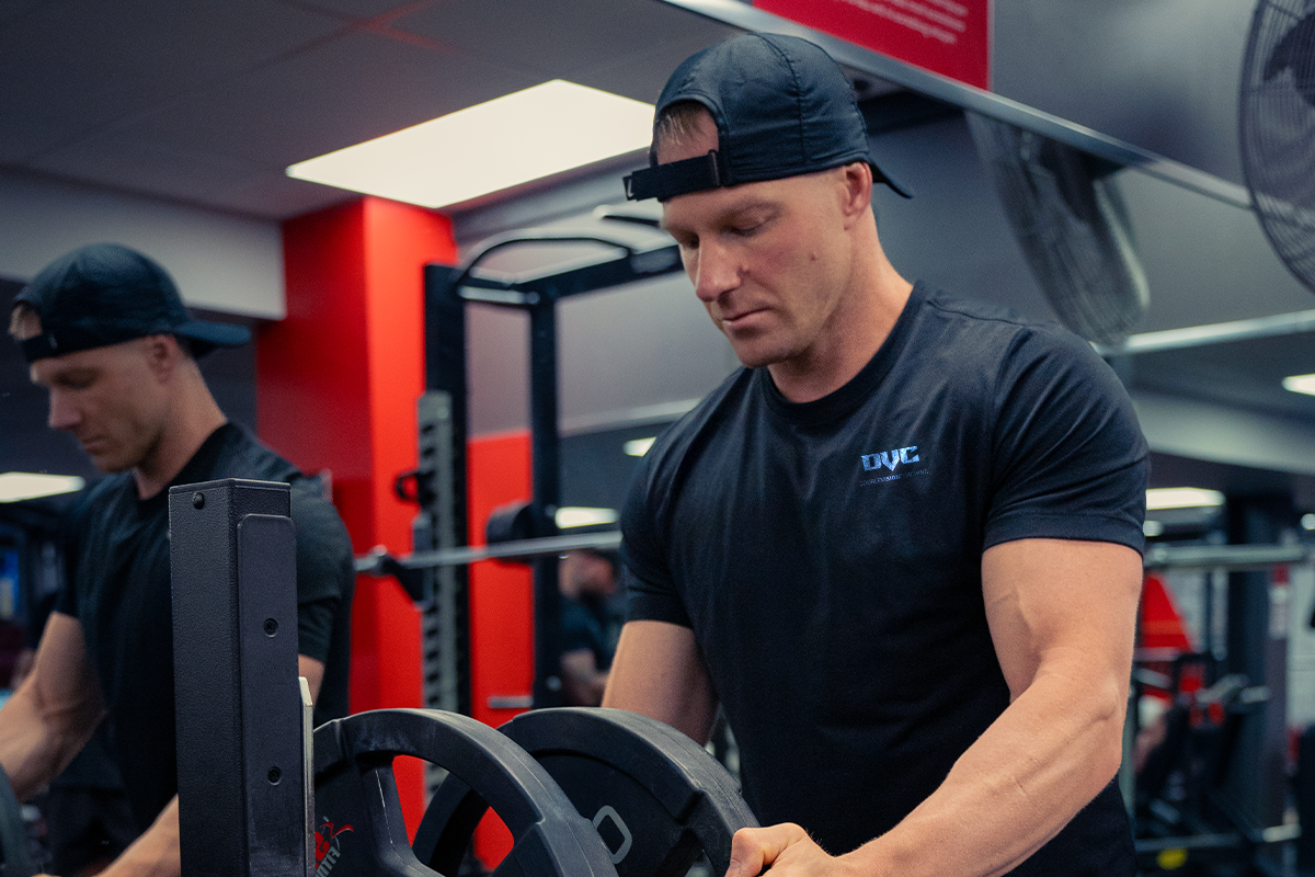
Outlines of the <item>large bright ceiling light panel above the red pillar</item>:
[{"label": "large bright ceiling light panel above the red pillar", "polygon": [[654,108],[562,79],[288,168],[288,176],[439,208],[647,149]]}]

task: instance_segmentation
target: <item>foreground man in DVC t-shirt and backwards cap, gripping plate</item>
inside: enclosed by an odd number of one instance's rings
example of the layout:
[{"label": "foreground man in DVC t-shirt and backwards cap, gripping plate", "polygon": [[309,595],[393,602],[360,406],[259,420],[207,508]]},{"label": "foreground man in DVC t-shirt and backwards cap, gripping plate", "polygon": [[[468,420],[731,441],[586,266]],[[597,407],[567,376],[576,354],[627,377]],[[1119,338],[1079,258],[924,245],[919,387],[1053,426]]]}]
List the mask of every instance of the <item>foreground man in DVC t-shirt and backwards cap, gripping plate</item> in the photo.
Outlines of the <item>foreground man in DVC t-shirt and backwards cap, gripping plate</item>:
[{"label": "foreground man in DVC t-shirt and backwards cap, gripping plate", "polygon": [[731,877],[1132,874],[1131,404],[1063,329],[903,280],[873,180],[907,196],[811,43],[668,80],[627,191],[744,368],[646,455],[605,705],[700,740],[722,705],[767,826]]}]

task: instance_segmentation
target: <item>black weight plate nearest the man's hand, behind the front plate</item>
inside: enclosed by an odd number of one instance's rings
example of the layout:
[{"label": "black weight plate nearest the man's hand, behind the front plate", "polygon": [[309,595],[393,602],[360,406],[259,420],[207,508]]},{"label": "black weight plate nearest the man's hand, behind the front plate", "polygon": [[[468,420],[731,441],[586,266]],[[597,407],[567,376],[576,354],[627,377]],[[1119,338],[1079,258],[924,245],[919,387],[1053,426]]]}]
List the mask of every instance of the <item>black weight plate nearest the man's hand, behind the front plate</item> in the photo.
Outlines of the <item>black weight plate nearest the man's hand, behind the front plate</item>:
[{"label": "black weight plate nearest the man's hand, behind the front plate", "polygon": [[[594,823],[619,877],[680,876],[700,852],[725,873],[731,836],[757,824],[725,768],[661,722],[622,710],[564,707],[525,713],[501,730]],[[416,835],[417,855],[426,860],[439,838],[444,848],[459,848],[481,813],[477,794],[443,782]]]}]

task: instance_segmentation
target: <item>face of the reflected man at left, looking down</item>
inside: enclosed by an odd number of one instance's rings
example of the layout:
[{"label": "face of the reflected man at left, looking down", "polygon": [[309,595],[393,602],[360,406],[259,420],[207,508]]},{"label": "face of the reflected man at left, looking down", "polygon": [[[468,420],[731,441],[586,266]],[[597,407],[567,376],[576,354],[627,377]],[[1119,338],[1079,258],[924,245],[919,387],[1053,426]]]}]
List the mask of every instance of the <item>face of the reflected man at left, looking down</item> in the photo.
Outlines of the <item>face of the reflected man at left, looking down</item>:
[{"label": "face of the reflected man at left, looking down", "polygon": [[150,367],[150,339],[50,356],[32,381],[50,393],[51,429],[71,433],[101,472],[124,472],[155,448],[168,401]]}]

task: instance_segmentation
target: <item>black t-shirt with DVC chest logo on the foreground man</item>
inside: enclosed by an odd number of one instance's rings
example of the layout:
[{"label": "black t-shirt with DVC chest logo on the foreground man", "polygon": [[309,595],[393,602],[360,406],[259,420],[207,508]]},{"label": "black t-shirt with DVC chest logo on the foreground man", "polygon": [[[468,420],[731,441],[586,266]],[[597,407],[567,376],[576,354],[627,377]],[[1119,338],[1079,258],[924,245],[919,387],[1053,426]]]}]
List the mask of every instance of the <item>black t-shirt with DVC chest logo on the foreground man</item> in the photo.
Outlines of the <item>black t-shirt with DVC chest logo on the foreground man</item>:
[{"label": "black t-shirt with DVC chest logo on the foreground man", "polygon": [[[1009,705],[981,556],[1143,546],[1147,446],[1081,339],[918,284],[848,384],[739,369],[646,455],[630,617],[693,628],[764,823],[831,852],[898,823]],[[1111,785],[1023,874],[1132,872]]]}]

